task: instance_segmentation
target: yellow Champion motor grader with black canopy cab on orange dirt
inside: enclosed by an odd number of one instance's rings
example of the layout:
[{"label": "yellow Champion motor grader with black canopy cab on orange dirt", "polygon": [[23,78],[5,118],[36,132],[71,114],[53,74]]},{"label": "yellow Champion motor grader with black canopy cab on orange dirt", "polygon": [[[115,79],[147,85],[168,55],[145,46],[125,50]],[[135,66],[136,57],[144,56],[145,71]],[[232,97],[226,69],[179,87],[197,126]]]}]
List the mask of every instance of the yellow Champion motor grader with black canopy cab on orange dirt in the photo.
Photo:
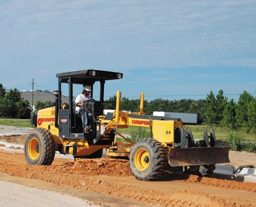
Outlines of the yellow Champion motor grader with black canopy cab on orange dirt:
[{"label": "yellow Champion motor grader with black canopy cab on orange dirt", "polygon": [[[104,114],[105,82],[122,79],[122,73],[82,70],[59,73],[56,77],[58,91],[53,92],[55,102],[31,117],[35,128],[28,133],[24,146],[28,164],[50,165],[55,151],[71,154],[75,159],[101,158],[103,149],[106,149],[106,156],[129,159],[136,179],[149,181],[163,178],[169,167],[176,172],[207,176],[213,172],[215,164],[229,162],[230,148],[215,147],[212,128],[210,135],[204,128],[204,138],[195,141],[190,128],[184,126],[182,120],[145,115],[144,94],[140,94],[140,110],[129,113],[120,111],[121,92],[117,91],[115,111]],[[84,133],[81,117],[75,109],[74,87],[90,85],[93,98],[96,83],[99,83],[99,100],[91,99],[83,106],[92,129]],[[68,88],[68,103],[61,100],[64,88]],[[120,133],[120,129],[129,126],[149,128],[151,137],[132,142]],[[117,137],[122,141],[118,141]]]}]

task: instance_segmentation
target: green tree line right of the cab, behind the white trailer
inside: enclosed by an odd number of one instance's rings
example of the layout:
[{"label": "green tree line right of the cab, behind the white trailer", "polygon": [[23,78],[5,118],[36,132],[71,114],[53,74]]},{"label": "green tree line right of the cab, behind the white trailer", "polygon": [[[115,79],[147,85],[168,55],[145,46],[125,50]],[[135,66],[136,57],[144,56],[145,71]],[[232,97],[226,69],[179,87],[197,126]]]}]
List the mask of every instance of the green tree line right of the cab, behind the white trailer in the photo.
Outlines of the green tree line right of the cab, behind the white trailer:
[{"label": "green tree line right of the cab, behind the white trailer", "polygon": [[[256,98],[243,91],[236,103],[234,99],[228,100],[223,90],[215,96],[212,91],[206,99],[180,99],[166,100],[154,99],[144,101],[144,112],[153,115],[153,111],[197,113],[198,124],[219,125],[230,129],[240,129],[256,133]],[[105,108],[115,109],[116,96],[111,96],[105,103]],[[139,111],[140,100],[129,100],[122,97],[120,110]]]}]

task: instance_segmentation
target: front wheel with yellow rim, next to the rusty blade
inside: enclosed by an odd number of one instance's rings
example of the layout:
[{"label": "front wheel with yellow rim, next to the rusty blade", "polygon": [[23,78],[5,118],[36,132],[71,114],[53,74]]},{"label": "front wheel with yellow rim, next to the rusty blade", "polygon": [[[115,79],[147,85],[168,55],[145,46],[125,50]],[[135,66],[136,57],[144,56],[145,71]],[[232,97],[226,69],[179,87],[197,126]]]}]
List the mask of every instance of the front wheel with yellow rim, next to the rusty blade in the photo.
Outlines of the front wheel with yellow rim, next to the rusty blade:
[{"label": "front wheel with yellow rim, next to the rusty blade", "polygon": [[166,169],[166,153],[160,142],[144,138],[136,142],[130,151],[130,170],[137,180],[162,179]]}]

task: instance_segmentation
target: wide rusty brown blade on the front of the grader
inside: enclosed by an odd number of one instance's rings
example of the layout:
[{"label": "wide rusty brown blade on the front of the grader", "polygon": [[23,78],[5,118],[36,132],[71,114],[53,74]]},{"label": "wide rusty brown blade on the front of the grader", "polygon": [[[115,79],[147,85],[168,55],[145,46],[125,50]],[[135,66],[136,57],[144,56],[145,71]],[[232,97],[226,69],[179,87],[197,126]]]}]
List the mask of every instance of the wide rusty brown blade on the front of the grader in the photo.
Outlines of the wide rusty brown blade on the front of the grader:
[{"label": "wide rusty brown blade on the front of the grader", "polygon": [[175,166],[218,164],[230,162],[230,147],[188,147],[169,151],[169,164]]}]

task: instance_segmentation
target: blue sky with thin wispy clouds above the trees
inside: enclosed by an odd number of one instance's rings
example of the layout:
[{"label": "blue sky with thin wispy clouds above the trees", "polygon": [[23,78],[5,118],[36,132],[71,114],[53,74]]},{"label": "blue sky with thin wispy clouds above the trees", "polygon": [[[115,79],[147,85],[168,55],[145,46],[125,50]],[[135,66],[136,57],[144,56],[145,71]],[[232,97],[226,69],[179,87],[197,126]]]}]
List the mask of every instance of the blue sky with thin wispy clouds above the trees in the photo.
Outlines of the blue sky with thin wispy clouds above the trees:
[{"label": "blue sky with thin wispy clouds above the trees", "polygon": [[124,74],[105,99],[256,93],[256,0],[1,0],[0,19],[6,89],[53,91],[57,73],[93,68]]}]

